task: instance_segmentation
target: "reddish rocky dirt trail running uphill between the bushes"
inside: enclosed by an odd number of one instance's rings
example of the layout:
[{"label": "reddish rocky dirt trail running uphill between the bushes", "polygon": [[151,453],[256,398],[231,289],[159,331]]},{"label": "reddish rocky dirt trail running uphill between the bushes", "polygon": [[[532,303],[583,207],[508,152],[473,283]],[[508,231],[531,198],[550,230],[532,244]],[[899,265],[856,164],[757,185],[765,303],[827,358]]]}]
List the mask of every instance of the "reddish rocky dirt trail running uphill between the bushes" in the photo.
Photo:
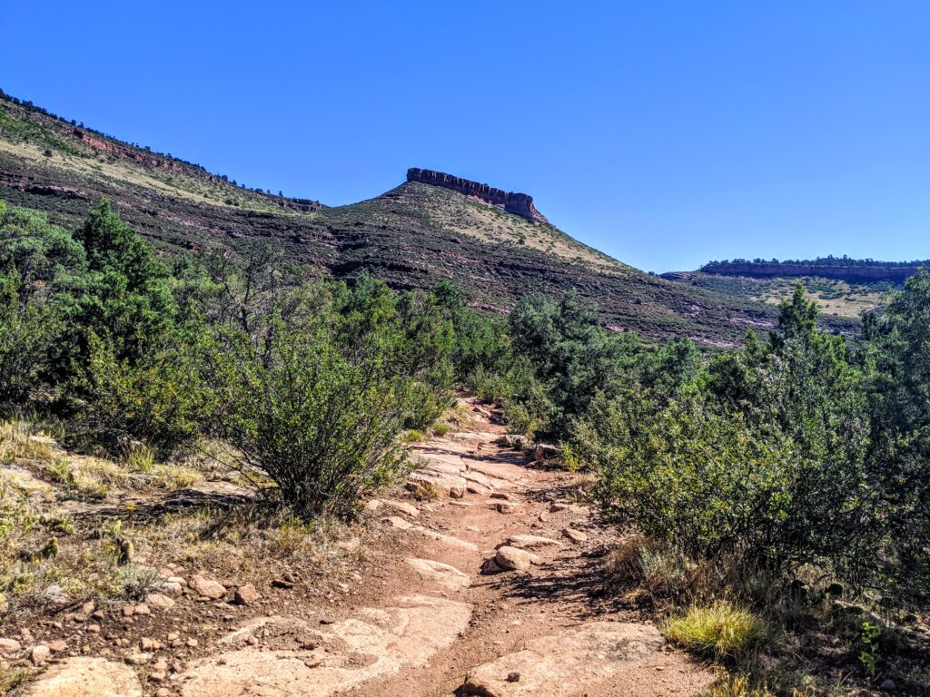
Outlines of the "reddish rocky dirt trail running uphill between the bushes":
[{"label": "reddish rocky dirt trail running uphill between the bushes", "polygon": [[[436,497],[418,501],[402,488],[369,503],[378,546],[338,599],[301,595],[309,579],[287,572],[272,587],[233,591],[187,570],[151,598],[167,598],[155,610],[163,618],[191,600],[175,630],[163,619],[164,637],[122,658],[61,653],[25,694],[606,697],[706,688],[706,667],[602,597],[599,569],[615,533],[573,502],[574,476],[501,444],[494,414],[461,403],[474,417],[467,430],[412,448],[423,461],[412,481],[428,482],[421,489]],[[100,625],[110,619],[96,616]],[[209,631],[185,639],[196,623]],[[186,652],[171,653],[179,646]]]}]

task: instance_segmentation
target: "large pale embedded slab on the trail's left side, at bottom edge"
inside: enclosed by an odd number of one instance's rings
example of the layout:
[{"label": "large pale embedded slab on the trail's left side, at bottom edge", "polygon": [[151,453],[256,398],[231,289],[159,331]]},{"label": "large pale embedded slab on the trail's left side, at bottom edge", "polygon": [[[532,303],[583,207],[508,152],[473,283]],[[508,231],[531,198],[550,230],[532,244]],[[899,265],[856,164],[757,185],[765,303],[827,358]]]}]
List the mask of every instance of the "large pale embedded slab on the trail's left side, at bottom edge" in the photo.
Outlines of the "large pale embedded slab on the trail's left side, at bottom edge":
[{"label": "large pale embedded slab on the trail's left side, at bottom edge", "polygon": [[[314,642],[309,650],[242,648],[194,661],[181,677],[181,695],[329,697],[406,666],[427,664],[458,637],[472,616],[470,605],[443,598],[414,596],[396,598],[396,603],[314,627],[319,646]],[[263,630],[273,634],[272,625],[283,625],[295,636],[309,631],[307,623],[293,618],[268,618]],[[240,630],[231,638],[242,636]]]}]

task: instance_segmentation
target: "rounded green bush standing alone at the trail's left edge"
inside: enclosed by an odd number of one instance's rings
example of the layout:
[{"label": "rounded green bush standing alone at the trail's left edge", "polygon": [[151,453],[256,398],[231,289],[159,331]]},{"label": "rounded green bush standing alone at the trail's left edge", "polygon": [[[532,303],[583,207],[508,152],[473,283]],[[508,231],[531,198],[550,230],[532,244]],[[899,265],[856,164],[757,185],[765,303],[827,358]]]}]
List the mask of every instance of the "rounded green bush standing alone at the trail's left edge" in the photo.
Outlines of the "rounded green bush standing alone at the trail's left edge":
[{"label": "rounded green bush standing alone at the trail's left edge", "polygon": [[374,356],[347,359],[326,322],[271,326],[261,355],[229,332],[206,355],[229,464],[270,478],[301,518],[352,517],[362,497],[408,471],[399,437],[412,380]]}]

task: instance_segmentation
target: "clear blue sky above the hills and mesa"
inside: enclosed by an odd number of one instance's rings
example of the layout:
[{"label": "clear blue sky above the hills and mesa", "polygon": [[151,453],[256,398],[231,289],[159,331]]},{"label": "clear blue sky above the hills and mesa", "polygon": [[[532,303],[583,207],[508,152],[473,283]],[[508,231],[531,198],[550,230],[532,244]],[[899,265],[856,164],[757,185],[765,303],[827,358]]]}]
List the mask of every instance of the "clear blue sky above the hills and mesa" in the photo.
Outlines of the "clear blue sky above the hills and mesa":
[{"label": "clear blue sky above the hills and mesa", "polygon": [[272,191],[408,166],[646,270],[930,256],[930,2],[2,0],[0,87]]}]

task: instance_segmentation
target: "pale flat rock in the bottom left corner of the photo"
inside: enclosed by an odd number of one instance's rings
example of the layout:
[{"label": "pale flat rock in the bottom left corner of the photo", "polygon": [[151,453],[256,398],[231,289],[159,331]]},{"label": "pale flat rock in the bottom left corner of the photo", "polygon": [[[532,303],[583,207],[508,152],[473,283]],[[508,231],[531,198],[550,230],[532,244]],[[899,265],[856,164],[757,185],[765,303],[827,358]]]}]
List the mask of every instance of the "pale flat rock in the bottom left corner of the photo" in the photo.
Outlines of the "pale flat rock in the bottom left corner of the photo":
[{"label": "pale flat rock in the bottom left corner of the photo", "polygon": [[142,686],[127,665],[78,657],[49,668],[25,697],[142,697]]}]

